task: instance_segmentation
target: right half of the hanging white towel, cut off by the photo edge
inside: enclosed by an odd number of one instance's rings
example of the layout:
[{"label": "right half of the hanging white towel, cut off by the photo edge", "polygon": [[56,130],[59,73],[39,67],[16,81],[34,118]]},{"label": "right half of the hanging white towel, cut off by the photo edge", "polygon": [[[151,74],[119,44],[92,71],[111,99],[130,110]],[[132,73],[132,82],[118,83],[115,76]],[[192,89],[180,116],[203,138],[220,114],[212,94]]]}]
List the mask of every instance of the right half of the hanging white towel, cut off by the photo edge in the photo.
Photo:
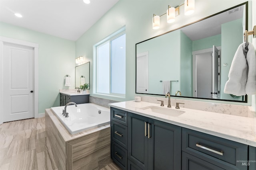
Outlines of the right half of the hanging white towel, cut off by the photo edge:
[{"label": "right half of the hanging white towel, cut off by the photo edge", "polygon": [[248,64],[248,75],[245,86],[245,93],[247,95],[256,94],[256,54],[252,43],[248,44],[248,51],[246,54],[246,61]]}]

